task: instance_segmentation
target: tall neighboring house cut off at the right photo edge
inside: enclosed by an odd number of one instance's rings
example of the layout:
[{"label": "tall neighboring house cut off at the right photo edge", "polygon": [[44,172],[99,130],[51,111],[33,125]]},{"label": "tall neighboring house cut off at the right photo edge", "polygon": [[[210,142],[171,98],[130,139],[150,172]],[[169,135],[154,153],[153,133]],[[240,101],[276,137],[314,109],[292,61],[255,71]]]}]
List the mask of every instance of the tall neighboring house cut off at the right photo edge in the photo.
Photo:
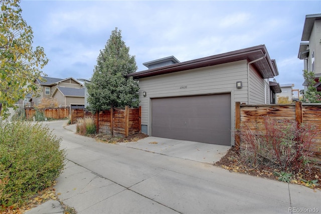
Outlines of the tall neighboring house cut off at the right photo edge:
[{"label": "tall neighboring house cut off at the right photo edge", "polygon": [[[321,14],[305,16],[298,58],[303,59],[303,69],[313,71],[317,91],[321,91]],[[304,89],[307,89],[305,82]]]}]

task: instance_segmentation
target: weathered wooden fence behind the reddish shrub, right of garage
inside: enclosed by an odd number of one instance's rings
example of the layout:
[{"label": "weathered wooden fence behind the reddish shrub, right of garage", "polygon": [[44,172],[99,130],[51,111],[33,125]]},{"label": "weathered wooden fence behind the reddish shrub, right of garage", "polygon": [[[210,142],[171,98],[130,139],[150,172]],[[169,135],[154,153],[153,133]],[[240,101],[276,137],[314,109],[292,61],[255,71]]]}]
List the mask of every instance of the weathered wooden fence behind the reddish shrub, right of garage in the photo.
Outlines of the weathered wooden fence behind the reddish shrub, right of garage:
[{"label": "weathered wooden fence behind the reddish shrub, right of garage", "polygon": [[[321,131],[321,104],[295,102],[295,104],[245,105],[235,104],[235,129],[239,130],[245,123],[251,129],[263,123],[264,117],[276,120],[296,121],[297,124],[308,123]],[[253,125],[251,127],[251,125]],[[321,164],[321,134],[314,139],[313,152]],[[240,136],[235,136],[235,147],[240,148]]]}]

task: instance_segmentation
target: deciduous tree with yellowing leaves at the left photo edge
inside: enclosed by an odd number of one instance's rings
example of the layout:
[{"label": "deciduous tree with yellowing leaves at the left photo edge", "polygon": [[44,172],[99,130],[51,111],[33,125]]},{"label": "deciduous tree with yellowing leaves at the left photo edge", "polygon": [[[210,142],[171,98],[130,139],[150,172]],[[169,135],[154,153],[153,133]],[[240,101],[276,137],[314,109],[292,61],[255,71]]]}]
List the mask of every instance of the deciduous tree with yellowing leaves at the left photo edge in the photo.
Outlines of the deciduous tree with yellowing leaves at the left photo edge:
[{"label": "deciduous tree with yellowing leaves at the left photo edge", "polygon": [[42,47],[33,48],[33,31],[22,17],[20,0],[1,0],[0,12],[0,106],[8,107],[37,90],[36,78],[48,63]]}]

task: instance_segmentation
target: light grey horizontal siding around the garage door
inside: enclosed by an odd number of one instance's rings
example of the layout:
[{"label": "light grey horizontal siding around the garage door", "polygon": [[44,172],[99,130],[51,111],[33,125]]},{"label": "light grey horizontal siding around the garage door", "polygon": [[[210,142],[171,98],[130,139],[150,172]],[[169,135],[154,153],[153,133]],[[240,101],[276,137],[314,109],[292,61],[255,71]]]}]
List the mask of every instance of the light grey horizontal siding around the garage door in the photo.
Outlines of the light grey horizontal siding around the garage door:
[{"label": "light grey horizontal siding around the garage door", "polygon": [[[237,81],[242,81],[241,89],[236,88]],[[139,79],[141,125],[147,125],[150,134],[151,113],[148,112],[151,109],[150,98],[227,92],[231,93],[231,118],[234,126],[235,101],[247,103],[247,86],[246,60],[141,78]],[[146,96],[142,95],[143,91],[146,91]],[[262,89],[261,91],[263,92]],[[261,100],[261,103],[264,103],[264,100]]]}]

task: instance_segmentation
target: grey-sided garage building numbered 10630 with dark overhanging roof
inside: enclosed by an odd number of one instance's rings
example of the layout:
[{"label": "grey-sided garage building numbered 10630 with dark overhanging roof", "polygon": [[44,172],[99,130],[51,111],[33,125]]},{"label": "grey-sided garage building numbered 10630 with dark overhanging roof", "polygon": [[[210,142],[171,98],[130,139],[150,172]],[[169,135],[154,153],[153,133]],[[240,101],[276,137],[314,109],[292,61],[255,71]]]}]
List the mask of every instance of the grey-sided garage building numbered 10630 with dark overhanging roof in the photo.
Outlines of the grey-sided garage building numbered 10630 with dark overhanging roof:
[{"label": "grey-sided garage building numbered 10630 with dark overhanging roof", "polygon": [[269,81],[278,70],[265,45],[167,59],[175,63],[157,67],[154,60],[144,63],[152,68],[127,75],[139,80],[141,130],[149,136],[234,145],[235,102],[269,104],[281,90]]}]

